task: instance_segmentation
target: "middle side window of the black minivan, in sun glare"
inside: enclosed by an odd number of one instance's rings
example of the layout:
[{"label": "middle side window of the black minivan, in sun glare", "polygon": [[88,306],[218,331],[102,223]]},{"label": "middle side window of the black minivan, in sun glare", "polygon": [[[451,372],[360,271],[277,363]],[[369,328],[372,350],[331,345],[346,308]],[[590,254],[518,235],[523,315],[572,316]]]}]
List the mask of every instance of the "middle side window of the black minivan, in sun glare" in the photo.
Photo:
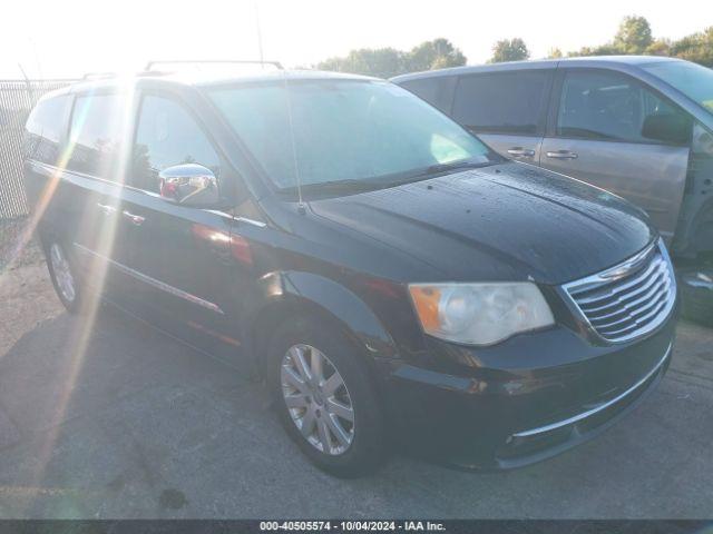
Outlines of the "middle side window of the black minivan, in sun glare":
[{"label": "middle side window of the black minivan, in sun glare", "polygon": [[77,97],[71,113],[67,167],[118,181],[125,131],[128,130],[125,117],[120,95]]}]

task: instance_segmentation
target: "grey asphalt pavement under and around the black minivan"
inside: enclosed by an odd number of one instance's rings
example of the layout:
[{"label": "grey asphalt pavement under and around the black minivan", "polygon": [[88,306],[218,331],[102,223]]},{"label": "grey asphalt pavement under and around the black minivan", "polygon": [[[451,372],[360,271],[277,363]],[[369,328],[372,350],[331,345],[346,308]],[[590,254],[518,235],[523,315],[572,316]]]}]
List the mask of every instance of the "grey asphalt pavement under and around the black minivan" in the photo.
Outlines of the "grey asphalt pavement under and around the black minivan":
[{"label": "grey asphalt pavement under and around the black minivan", "polygon": [[711,329],[682,323],[656,390],[556,458],[478,474],[395,455],[343,481],[260,384],[111,308],[86,320],[59,313],[0,354],[0,517],[713,516]]}]

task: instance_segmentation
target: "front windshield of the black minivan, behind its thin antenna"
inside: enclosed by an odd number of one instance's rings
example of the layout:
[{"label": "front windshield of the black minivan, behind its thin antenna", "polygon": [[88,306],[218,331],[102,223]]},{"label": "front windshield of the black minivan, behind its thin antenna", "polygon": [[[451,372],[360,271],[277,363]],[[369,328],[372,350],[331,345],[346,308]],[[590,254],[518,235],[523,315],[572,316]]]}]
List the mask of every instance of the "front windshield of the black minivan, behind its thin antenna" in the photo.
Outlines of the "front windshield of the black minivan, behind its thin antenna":
[{"label": "front windshield of the black minivan, behind its thin antenna", "polygon": [[283,79],[208,95],[283,190],[295,188],[295,169],[306,190],[351,190],[501,160],[436,108],[385,81]]}]

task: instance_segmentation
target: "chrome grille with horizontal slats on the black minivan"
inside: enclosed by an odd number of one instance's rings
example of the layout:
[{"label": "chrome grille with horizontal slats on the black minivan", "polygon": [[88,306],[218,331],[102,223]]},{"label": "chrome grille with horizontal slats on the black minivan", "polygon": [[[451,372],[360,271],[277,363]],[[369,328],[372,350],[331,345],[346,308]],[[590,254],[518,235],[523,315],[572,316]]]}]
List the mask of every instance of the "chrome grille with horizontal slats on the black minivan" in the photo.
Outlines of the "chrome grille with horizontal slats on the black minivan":
[{"label": "chrome grille with horizontal slats on the black minivan", "polygon": [[652,332],[676,299],[676,278],[661,241],[563,287],[592,329],[608,342],[626,342]]}]

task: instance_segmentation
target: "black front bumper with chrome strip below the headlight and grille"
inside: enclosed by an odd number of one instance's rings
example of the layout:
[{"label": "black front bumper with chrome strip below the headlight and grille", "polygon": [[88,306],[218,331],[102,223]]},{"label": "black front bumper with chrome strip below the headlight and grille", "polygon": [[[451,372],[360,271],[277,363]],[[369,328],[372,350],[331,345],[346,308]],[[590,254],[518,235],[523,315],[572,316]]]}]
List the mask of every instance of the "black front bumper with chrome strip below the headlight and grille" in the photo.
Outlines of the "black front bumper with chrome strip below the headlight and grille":
[{"label": "black front bumper with chrome strip below the headlight and grille", "polygon": [[429,340],[420,365],[384,363],[383,395],[409,448],[461,467],[519,467],[633,409],[668,367],[675,315],[622,345],[595,346],[565,327],[485,349]]}]

